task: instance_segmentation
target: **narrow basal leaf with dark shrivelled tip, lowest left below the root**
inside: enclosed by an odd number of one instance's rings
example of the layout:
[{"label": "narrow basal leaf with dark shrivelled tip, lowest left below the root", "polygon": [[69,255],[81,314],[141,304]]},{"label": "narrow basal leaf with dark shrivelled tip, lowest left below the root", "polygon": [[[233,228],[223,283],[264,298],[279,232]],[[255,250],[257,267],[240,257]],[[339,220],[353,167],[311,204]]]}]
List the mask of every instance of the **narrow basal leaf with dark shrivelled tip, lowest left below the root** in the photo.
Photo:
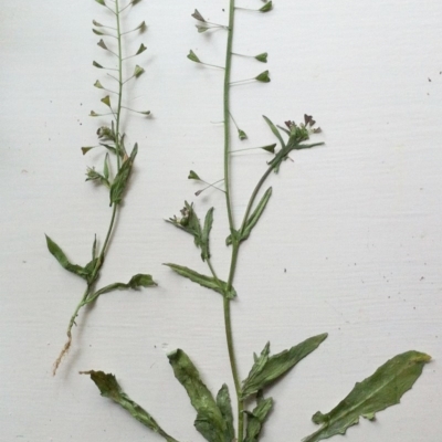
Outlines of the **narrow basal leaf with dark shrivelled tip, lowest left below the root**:
[{"label": "narrow basal leaf with dark shrivelled tip, lowest left below the root", "polygon": [[122,389],[114,375],[103,371],[84,371],[83,375],[90,375],[91,379],[98,387],[103,397],[113,400],[118,406],[127,410],[133,418],[143,423],[148,429],[161,435],[167,442],[177,442],[176,439],[167,434],[157,421],[138,403],[134,402]]}]

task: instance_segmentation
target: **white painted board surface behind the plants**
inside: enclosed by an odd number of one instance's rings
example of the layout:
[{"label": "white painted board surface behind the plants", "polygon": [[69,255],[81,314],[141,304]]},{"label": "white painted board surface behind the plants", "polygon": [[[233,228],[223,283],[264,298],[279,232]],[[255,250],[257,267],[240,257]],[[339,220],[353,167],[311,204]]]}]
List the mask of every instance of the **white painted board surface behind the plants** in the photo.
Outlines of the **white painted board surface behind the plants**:
[{"label": "white painted board surface behind the plants", "polygon": [[[242,6],[259,8],[257,0]],[[104,189],[84,182],[83,157],[106,119],[93,87],[110,59],[96,46],[92,19],[110,20],[93,0],[3,2],[0,23],[2,210],[2,441],[159,441],[99,397],[78,370],[116,373],[128,394],[180,441],[202,441],[194,411],[166,354],[183,348],[212,391],[233,386],[221,297],[161,266],[206,272],[192,239],[164,219],[196,201],[215,207],[213,263],[225,277],[230,250],[223,194],[188,181],[190,169],[222,177],[222,72],[189,62],[190,49],[222,64],[225,33],[198,34],[198,8],[227,23],[223,0],[145,0],[124,27],[146,20],[146,69],[128,104],[152,110],[125,123],[139,154],[101,283],[151,273],[158,288],[115,292],[82,311],[73,347],[55,378],[52,362],[84,286],[45,249],[50,234],[75,263],[90,260],[94,234],[110,217]],[[388,358],[408,349],[434,360],[402,403],[351,428],[352,442],[439,442],[442,397],[441,103],[442,3],[439,0],[278,0],[269,14],[239,11],[235,52],[269,52],[269,63],[234,59],[233,78],[271,72],[270,84],[232,88],[232,113],[249,135],[241,147],[275,139],[277,124],[313,114],[324,147],[292,155],[271,177],[267,210],[241,250],[232,303],[241,377],[267,340],[274,352],[324,332],[328,339],[269,392],[274,412],[263,441],[299,441]],[[128,63],[131,70],[133,62]],[[234,148],[240,148],[235,140]],[[236,155],[236,222],[264,171],[266,154]]]}]

